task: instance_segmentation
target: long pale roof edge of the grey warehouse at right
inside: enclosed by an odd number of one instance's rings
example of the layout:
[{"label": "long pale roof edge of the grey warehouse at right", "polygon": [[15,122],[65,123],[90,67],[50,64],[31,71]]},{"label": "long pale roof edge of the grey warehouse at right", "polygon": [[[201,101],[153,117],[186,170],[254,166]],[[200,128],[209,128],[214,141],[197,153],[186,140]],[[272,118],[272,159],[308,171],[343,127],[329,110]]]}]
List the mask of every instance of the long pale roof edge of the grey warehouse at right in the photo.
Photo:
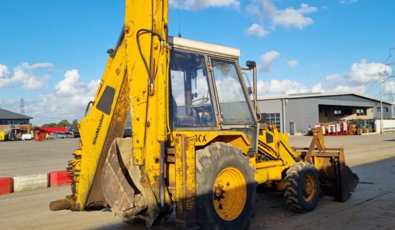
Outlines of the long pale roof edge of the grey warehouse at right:
[{"label": "long pale roof edge of the grey warehouse at right", "polygon": [[[308,98],[308,97],[325,97],[325,96],[343,96],[343,95],[354,95],[357,97],[366,98],[369,100],[380,102],[380,98],[366,95],[363,93],[353,92],[353,91],[343,91],[343,92],[318,92],[318,93],[294,93],[294,94],[280,94],[280,95],[267,95],[259,96],[258,101],[272,100],[272,99],[291,99],[291,98]],[[383,103],[389,105],[395,105],[394,102],[388,100],[382,100]]]}]

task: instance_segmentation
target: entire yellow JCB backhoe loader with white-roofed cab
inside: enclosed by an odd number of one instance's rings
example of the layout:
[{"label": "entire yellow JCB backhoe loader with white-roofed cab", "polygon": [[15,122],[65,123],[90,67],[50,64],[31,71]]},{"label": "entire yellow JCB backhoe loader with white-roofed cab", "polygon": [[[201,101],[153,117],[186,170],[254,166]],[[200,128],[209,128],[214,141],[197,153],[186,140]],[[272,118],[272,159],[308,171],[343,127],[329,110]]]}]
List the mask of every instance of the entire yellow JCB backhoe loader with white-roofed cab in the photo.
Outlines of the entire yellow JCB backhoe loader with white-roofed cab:
[{"label": "entire yellow JCB backhoe loader with white-roofed cab", "polygon": [[[67,168],[72,194],[50,210],[110,207],[148,227],[175,210],[177,229],[243,230],[257,185],[283,191],[299,212],[313,210],[320,195],[349,198],[358,177],[342,148],[324,147],[321,129],[309,148],[296,149],[260,122],[256,65],[240,67],[239,49],[168,36],[167,0],[126,0],[125,12],[78,125],[80,148]],[[129,114],[132,136],[123,138]]]}]

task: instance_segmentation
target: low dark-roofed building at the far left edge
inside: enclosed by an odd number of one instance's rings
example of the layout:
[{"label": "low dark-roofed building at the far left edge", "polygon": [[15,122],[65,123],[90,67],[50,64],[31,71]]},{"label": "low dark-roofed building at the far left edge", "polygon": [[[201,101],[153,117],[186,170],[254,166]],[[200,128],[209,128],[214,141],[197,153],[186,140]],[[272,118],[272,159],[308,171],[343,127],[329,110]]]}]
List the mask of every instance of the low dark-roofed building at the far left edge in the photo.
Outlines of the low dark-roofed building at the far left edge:
[{"label": "low dark-roofed building at the far left edge", "polygon": [[16,135],[30,133],[30,119],[33,117],[0,109],[0,131],[12,131]]}]

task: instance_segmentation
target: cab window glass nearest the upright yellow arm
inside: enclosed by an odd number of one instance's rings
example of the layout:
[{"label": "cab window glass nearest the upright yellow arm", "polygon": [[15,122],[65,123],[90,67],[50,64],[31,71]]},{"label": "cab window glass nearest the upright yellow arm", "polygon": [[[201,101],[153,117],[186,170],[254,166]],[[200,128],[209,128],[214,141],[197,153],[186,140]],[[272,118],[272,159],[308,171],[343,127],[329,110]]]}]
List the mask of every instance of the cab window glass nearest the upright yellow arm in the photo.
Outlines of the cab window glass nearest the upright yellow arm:
[{"label": "cab window glass nearest the upright yellow arm", "polygon": [[173,49],[170,58],[173,126],[215,126],[204,56]]}]

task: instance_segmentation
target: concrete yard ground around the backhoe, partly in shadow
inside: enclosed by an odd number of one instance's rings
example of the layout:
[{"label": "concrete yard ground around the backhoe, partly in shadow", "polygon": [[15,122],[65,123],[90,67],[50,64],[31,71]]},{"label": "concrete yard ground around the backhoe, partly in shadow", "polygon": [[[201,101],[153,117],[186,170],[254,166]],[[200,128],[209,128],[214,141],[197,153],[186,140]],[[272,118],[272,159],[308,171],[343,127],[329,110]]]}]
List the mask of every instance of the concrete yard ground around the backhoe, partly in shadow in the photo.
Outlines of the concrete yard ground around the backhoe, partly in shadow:
[{"label": "concrete yard ground around the backhoe, partly in shadow", "polygon": [[[291,137],[291,145],[308,147],[311,137]],[[395,134],[327,137],[327,147],[345,148],[346,163],[360,183],[351,198],[335,202],[320,199],[316,209],[298,214],[278,193],[258,193],[250,229],[395,229]],[[0,177],[63,170],[78,140],[0,143]],[[22,173],[21,173],[22,172]],[[49,211],[49,201],[70,194],[68,186],[0,196],[1,229],[129,229],[108,210]],[[143,230],[145,227],[132,227]],[[152,228],[154,230],[159,227]]]}]

